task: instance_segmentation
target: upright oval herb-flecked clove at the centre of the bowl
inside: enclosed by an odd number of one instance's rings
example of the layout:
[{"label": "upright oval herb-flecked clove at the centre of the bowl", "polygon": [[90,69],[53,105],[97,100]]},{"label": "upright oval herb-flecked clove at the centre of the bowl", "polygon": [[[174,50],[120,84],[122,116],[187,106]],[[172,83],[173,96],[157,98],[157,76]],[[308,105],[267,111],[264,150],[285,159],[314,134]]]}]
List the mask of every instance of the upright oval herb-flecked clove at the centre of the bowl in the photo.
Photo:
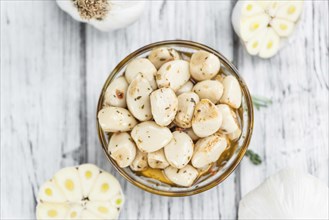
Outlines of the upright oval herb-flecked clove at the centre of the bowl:
[{"label": "upright oval herb-flecked clove at the centre of the bowl", "polygon": [[150,95],[151,110],[155,122],[161,126],[169,125],[175,118],[178,100],[170,88],[155,90]]}]

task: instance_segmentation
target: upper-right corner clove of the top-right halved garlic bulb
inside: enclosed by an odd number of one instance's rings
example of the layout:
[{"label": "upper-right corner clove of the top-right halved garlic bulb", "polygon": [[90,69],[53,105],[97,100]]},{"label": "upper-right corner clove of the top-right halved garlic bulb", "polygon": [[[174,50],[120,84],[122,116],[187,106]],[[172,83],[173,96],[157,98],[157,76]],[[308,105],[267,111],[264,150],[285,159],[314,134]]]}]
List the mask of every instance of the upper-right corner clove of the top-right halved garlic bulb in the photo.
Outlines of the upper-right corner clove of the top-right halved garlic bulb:
[{"label": "upper-right corner clove of the top-right halved garlic bulb", "polygon": [[285,2],[278,8],[275,17],[296,22],[302,13],[303,4],[303,1]]}]

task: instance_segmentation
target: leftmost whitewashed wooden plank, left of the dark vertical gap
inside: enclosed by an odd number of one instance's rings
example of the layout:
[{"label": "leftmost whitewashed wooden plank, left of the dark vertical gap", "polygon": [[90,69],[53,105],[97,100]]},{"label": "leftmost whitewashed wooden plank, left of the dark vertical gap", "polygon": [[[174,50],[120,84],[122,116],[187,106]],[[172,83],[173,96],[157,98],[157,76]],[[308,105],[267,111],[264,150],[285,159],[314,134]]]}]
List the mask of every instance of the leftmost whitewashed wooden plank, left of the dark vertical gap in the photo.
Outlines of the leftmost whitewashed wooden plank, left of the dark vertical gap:
[{"label": "leftmost whitewashed wooden plank, left of the dark vertical gap", "polygon": [[79,163],[79,24],[53,1],[1,1],[1,218],[35,218],[41,183]]}]

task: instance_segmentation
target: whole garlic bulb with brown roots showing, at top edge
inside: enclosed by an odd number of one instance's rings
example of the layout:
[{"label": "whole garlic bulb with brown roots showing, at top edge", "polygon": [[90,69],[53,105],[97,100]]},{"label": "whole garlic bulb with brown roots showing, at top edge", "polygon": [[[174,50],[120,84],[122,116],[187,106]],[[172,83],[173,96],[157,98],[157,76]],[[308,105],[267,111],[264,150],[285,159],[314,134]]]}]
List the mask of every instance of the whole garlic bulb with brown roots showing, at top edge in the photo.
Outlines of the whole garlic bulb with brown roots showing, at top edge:
[{"label": "whole garlic bulb with brown roots showing, at top edge", "polygon": [[77,21],[101,31],[124,28],[142,14],[145,1],[56,0],[58,6]]}]

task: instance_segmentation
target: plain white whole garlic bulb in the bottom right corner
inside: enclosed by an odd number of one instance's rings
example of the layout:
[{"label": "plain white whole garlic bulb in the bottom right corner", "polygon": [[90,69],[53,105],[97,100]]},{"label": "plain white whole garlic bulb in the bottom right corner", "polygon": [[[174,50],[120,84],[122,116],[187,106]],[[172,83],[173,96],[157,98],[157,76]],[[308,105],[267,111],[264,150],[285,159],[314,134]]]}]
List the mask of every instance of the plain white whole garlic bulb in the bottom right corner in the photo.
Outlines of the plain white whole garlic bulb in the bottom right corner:
[{"label": "plain white whole garlic bulb in the bottom right corner", "polygon": [[239,219],[328,219],[328,186],[285,169],[242,198]]}]

